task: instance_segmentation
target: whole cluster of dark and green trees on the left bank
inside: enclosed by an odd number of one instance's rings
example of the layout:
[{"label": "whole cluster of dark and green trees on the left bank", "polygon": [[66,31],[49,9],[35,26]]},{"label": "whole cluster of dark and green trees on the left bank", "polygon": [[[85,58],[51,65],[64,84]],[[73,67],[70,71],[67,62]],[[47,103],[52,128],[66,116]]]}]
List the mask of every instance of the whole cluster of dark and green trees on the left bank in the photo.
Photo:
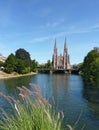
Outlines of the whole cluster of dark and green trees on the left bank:
[{"label": "whole cluster of dark and green trees on the left bank", "polygon": [[18,49],[14,54],[10,54],[5,63],[1,63],[7,73],[17,72],[19,74],[26,74],[31,71],[36,72],[38,62],[31,60],[29,52],[25,49]]}]

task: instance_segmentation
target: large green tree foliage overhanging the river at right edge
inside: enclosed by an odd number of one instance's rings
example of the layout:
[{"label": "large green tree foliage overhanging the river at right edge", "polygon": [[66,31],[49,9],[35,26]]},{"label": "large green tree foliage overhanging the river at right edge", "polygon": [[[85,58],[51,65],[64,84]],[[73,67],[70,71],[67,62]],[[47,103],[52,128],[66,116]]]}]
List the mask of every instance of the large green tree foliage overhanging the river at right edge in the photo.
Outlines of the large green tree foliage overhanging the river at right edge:
[{"label": "large green tree foliage overhanging the river at right edge", "polygon": [[94,48],[87,54],[82,72],[87,84],[99,87],[99,48]]}]

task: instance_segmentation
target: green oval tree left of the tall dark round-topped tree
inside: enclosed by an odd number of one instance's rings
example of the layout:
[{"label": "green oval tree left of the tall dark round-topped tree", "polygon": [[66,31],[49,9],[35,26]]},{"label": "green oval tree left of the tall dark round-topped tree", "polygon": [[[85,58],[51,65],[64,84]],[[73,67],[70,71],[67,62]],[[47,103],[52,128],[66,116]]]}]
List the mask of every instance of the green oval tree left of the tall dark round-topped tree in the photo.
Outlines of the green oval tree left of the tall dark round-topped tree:
[{"label": "green oval tree left of the tall dark round-topped tree", "polygon": [[16,67],[16,58],[15,56],[11,53],[8,58],[5,61],[5,71],[7,73],[11,73],[15,70]]}]

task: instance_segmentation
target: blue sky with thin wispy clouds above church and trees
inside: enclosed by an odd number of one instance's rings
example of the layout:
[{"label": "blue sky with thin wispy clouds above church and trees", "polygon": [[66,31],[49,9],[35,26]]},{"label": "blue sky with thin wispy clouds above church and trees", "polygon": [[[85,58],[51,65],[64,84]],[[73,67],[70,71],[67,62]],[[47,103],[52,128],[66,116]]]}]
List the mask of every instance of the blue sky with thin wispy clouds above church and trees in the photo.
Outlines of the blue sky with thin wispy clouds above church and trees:
[{"label": "blue sky with thin wispy clouds above church and trees", "polygon": [[99,0],[0,0],[0,53],[19,48],[40,64],[52,60],[67,42],[71,64],[99,47]]}]

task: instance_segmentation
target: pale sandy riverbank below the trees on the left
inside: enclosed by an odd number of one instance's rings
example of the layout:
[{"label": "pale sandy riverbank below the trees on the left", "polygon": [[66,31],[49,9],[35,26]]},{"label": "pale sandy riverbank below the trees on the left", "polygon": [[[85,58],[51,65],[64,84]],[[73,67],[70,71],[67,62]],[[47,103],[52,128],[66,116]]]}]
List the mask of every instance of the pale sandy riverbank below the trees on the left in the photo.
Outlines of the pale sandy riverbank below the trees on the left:
[{"label": "pale sandy riverbank below the trees on the left", "polygon": [[0,79],[9,79],[9,78],[16,78],[16,77],[23,77],[23,76],[30,76],[30,75],[36,75],[35,72],[30,72],[28,74],[17,74],[17,73],[5,73],[3,71],[0,71]]}]

